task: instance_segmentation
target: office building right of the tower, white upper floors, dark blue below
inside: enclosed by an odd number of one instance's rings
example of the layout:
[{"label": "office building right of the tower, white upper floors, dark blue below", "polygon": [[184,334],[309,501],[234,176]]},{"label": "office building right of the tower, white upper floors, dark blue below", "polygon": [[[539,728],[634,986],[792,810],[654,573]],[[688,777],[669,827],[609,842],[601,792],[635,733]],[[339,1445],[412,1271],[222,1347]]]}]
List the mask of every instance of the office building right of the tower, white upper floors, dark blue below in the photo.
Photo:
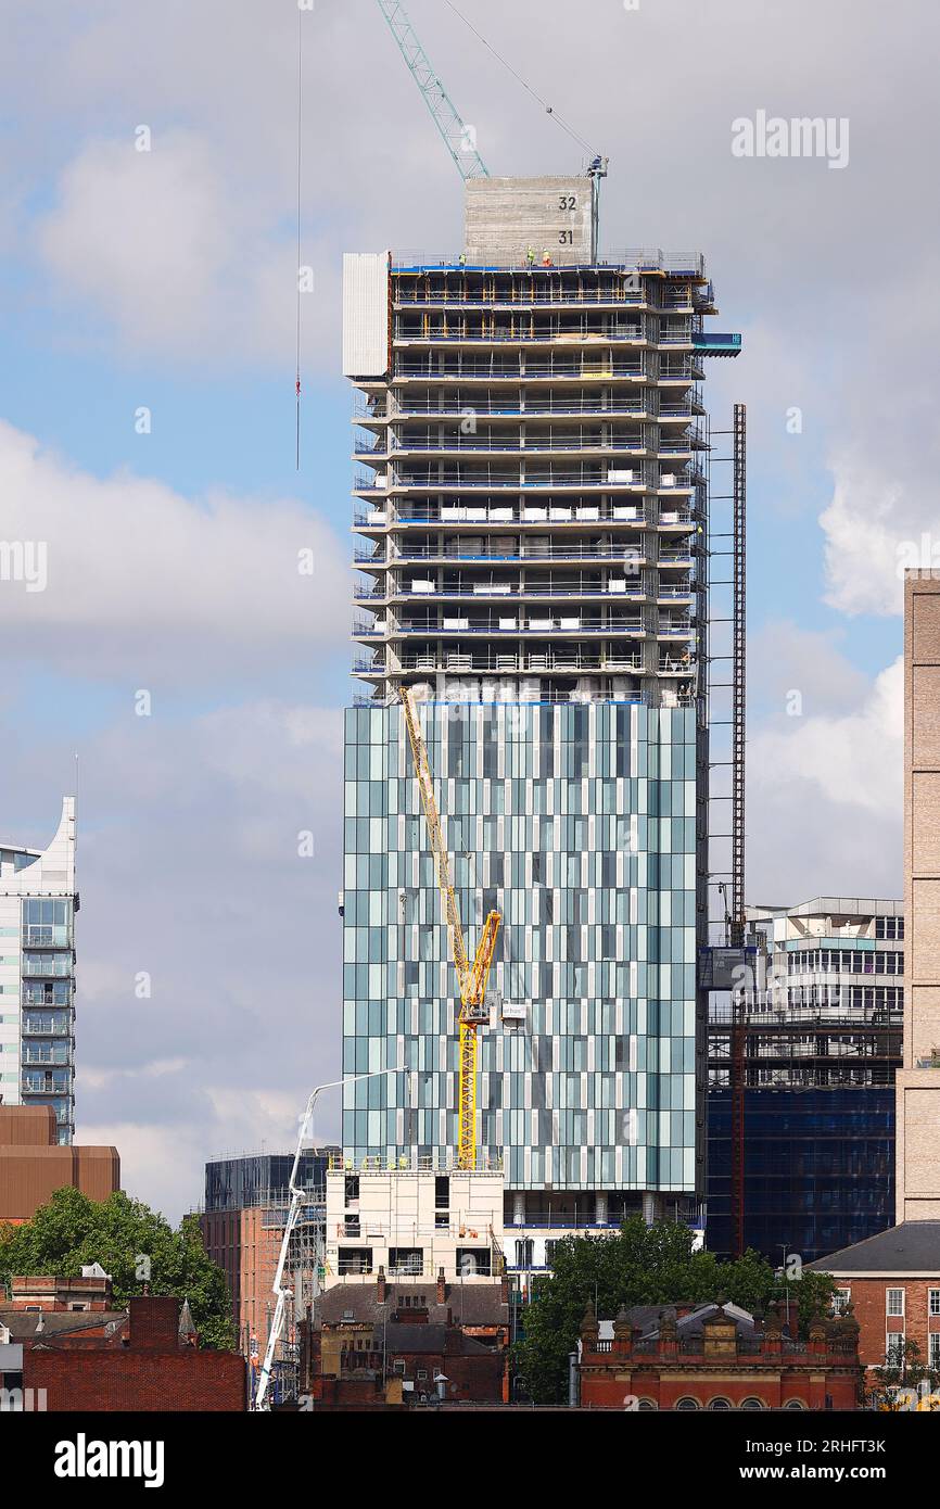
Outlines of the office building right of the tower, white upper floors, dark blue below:
[{"label": "office building right of the tower, white upper floors, dark blue below", "polygon": [[[899,901],[751,907],[739,993],[744,1246],[804,1262],[895,1219],[895,1073],[904,1020]],[[732,1252],[733,1005],[709,1007],[708,1246]]]}]

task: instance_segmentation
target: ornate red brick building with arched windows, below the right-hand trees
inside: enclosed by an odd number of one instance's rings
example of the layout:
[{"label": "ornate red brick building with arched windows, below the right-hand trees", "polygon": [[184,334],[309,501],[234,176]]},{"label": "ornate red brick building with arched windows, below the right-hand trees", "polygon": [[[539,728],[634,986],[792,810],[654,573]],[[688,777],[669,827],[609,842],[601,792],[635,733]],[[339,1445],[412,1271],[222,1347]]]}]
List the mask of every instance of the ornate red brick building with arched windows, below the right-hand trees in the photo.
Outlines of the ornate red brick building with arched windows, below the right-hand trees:
[{"label": "ornate red brick building with arched windows, below the right-hand trees", "polygon": [[863,1370],[851,1316],[791,1340],[771,1305],[762,1325],[736,1305],[635,1305],[581,1323],[582,1409],[857,1409]]}]

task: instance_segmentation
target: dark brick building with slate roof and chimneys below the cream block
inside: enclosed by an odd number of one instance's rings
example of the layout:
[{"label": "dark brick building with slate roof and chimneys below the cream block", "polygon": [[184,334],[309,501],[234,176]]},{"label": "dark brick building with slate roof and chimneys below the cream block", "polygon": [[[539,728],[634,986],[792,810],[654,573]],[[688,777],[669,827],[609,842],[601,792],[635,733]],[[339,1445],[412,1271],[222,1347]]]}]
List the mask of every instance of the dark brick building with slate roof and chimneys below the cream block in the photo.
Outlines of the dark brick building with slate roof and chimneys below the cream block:
[{"label": "dark brick building with slate roof and chimneys below the cream block", "polygon": [[380,1271],[327,1289],[302,1332],[302,1391],[324,1409],[508,1399],[505,1280],[392,1284]]}]

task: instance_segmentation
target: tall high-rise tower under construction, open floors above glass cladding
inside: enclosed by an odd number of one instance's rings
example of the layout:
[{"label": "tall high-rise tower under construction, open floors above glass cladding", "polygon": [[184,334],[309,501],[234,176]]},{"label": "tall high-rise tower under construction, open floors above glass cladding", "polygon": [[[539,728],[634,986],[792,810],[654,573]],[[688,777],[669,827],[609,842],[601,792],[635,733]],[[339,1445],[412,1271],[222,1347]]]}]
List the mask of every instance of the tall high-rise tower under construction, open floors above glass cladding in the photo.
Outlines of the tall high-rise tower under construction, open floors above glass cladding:
[{"label": "tall high-rise tower under construction, open floors above glass cladding", "polygon": [[[599,257],[596,177],[475,178],[444,258],[347,255],[356,388],[344,1150],[445,1169],[456,978],[502,914],[477,1145],[510,1219],[703,1194],[708,423],[699,254]],[[377,1071],[400,1065],[398,1073]],[[564,1221],[561,1222],[564,1224]]]}]

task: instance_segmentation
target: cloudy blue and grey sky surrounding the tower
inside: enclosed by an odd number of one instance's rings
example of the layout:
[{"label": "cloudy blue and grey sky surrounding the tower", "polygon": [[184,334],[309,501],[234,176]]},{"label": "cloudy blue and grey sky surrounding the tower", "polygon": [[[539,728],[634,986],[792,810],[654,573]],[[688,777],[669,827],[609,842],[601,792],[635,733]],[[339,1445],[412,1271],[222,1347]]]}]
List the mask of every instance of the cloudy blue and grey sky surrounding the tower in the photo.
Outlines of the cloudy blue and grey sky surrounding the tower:
[{"label": "cloudy blue and grey sky surrounding the tower", "polygon": [[[448,0],[407,6],[490,172],[582,171]],[[748,898],[899,895],[899,566],[940,539],[940,12],[460,9],[610,155],[602,244],[702,249],[712,327],[744,338],[706,401],[715,430],[748,413]],[[341,255],[454,250],[462,186],[374,0],[0,23],[0,536],[48,560],[42,592],[0,581],[0,841],[45,845],[77,788],[77,1139],[177,1219],[207,1157],[293,1147],[338,1074]],[[831,149],[756,151],[804,116]]]}]

